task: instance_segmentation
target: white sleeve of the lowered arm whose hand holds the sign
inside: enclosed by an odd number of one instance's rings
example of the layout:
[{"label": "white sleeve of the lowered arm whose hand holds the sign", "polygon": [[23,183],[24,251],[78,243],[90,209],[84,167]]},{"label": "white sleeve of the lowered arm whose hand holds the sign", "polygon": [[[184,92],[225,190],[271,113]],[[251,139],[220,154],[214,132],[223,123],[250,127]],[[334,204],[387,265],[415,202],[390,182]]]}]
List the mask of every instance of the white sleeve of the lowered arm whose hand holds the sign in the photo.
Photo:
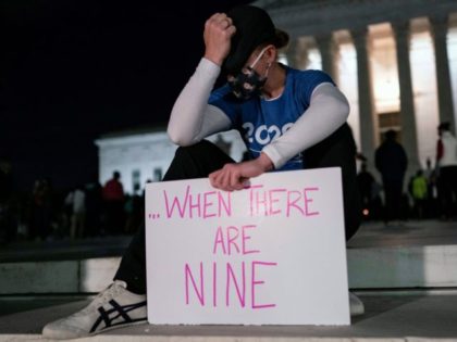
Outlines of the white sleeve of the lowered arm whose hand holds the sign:
[{"label": "white sleeve of the lowered arm whose hand holds the sign", "polygon": [[346,122],[348,115],[346,97],[332,84],[323,83],[313,90],[310,105],[298,121],[262,152],[275,168],[280,168],[294,155],[329,137]]}]

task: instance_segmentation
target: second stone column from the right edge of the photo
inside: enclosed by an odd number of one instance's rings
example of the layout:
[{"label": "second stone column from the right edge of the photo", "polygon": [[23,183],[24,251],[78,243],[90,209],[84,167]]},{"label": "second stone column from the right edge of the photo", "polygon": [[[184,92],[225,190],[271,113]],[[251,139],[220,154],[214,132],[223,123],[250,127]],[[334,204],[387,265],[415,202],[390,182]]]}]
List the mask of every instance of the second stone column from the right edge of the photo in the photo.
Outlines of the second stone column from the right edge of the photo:
[{"label": "second stone column from the right edge of the photo", "polygon": [[409,173],[419,167],[418,138],[412,94],[411,65],[409,61],[409,21],[392,23],[397,53],[398,83],[400,96],[402,144],[408,155]]}]

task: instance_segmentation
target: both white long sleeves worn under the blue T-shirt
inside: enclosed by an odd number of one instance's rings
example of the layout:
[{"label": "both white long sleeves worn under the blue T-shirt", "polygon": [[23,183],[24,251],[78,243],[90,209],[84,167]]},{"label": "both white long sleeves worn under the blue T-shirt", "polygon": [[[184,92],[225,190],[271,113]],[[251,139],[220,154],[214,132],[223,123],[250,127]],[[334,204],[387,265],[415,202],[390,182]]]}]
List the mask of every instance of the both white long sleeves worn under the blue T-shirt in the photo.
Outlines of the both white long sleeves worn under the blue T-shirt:
[{"label": "both white long sleeves worn under the blue T-shirt", "polygon": [[[190,145],[214,132],[234,128],[228,113],[208,104],[219,74],[217,64],[202,59],[182,90],[168,127],[168,134],[176,144]],[[348,114],[349,105],[345,96],[332,83],[323,81],[312,89],[309,105],[299,113],[298,118],[281,136],[267,143],[261,152],[270,157],[275,168],[281,168],[295,155],[341,127]]]}]

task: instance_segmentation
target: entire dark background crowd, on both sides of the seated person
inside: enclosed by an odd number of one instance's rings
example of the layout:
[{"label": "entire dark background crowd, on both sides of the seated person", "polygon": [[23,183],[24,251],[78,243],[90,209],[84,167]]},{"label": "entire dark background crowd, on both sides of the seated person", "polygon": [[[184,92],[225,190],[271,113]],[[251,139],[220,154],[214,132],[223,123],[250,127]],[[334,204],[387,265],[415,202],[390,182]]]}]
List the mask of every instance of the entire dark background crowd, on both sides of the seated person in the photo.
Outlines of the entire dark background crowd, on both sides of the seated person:
[{"label": "entire dark background crowd, on both sides of the seated person", "polygon": [[[408,157],[394,130],[385,134],[373,160],[378,175],[365,162],[357,175],[365,219],[457,218],[457,140],[448,123],[439,126],[434,165],[428,159],[409,179]],[[11,163],[0,164],[2,242],[132,235],[141,224],[144,193],[124,193],[119,172],[104,185],[91,181],[63,192],[49,179],[37,179],[29,193],[18,195],[11,188]]]}]

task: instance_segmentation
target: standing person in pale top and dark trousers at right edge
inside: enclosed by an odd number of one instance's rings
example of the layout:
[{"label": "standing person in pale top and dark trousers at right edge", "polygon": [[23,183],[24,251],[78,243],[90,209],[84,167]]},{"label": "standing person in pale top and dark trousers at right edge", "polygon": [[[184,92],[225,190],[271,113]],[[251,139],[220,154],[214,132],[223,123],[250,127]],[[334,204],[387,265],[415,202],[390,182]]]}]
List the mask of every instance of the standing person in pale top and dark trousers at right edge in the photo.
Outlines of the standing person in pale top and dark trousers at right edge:
[{"label": "standing person in pale top and dark trousers at right edge", "polygon": [[436,165],[439,167],[439,191],[442,202],[442,217],[449,219],[456,215],[457,200],[457,140],[450,132],[449,123],[437,127]]}]

